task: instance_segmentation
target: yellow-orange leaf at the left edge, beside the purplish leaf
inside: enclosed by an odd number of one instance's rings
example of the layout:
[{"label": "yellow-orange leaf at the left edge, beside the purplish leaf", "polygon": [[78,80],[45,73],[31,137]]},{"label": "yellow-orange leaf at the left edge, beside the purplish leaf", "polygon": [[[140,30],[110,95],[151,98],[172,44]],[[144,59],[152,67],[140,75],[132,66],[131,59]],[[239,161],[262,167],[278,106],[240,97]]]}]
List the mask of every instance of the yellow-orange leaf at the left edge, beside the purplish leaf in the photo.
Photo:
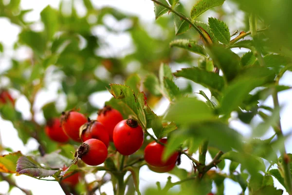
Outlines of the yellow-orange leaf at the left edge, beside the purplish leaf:
[{"label": "yellow-orange leaf at the left edge, beside the purplish leaf", "polygon": [[0,156],[0,172],[16,173],[16,166],[18,158],[22,156],[21,152],[9,153],[8,155]]}]

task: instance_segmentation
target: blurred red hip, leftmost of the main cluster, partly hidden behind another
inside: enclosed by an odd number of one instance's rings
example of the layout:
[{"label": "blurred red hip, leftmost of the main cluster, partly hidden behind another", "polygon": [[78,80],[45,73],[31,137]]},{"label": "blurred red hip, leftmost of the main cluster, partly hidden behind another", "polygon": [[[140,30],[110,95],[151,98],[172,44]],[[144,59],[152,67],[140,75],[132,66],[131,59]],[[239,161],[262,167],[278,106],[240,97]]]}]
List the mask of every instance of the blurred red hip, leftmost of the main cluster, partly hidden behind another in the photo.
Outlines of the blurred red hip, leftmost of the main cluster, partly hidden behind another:
[{"label": "blurred red hip, leftmost of the main cluster, partly hidden behind another", "polygon": [[69,137],[62,129],[61,121],[59,118],[53,118],[48,121],[47,126],[45,127],[45,132],[47,136],[54,141],[64,143],[69,140]]}]

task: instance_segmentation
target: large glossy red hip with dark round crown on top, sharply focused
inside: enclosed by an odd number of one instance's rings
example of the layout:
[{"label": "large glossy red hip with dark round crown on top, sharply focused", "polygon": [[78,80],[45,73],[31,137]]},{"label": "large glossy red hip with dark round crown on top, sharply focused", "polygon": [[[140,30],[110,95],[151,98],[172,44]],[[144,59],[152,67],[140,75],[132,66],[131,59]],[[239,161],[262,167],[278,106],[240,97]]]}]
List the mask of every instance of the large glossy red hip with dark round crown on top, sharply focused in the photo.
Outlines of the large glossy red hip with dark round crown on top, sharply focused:
[{"label": "large glossy red hip with dark round crown on top, sharply focused", "polygon": [[142,146],[144,132],[134,119],[119,122],[113,130],[113,143],[122,155],[131,155]]}]

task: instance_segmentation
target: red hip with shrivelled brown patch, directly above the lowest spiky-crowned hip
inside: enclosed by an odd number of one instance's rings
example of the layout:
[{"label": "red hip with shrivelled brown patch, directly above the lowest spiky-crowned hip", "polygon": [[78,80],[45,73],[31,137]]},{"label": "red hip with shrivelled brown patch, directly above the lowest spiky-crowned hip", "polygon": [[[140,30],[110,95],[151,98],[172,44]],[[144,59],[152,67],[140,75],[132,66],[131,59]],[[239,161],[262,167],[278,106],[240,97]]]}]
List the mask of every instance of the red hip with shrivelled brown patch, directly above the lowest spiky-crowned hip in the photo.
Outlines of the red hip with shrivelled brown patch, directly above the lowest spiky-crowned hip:
[{"label": "red hip with shrivelled brown patch, directly above the lowest spiky-crowned hip", "polygon": [[88,139],[101,140],[107,147],[109,147],[110,137],[105,126],[97,120],[90,120],[80,127],[80,137],[82,141]]}]

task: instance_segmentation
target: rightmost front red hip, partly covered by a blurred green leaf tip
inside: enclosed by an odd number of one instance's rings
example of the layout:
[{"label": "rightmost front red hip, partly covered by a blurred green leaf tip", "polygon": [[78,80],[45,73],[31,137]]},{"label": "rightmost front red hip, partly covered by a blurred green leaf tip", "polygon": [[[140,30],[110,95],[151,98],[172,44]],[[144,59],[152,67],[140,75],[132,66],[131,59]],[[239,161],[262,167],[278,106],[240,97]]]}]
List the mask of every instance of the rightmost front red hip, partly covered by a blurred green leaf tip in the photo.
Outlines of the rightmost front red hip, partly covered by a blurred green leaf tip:
[{"label": "rightmost front red hip, partly covered by a blurred green leaf tip", "polygon": [[[160,142],[166,144],[167,139],[163,138],[159,140]],[[154,167],[165,167],[171,164],[175,164],[178,158],[178,152],[171,155],[166,161],[163,161],[163,153],[165,146],[161,145],[155,141],[149,143],[144,150],[144,159],[147,164]]]}]

